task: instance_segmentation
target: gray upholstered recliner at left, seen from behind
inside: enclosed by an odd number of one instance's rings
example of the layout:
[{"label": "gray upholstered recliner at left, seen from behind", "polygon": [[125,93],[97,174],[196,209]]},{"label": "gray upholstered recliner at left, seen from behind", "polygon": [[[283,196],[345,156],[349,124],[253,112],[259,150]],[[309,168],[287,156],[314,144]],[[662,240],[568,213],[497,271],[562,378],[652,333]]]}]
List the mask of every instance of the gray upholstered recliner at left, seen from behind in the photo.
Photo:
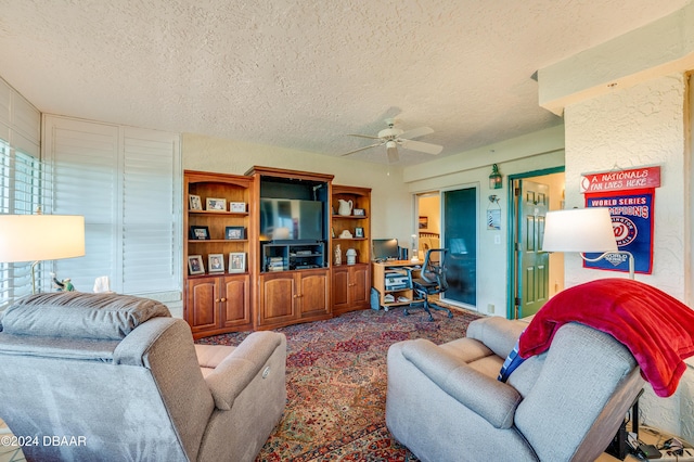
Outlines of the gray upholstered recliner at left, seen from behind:
[{"label": "gray upholstered recliner at left, seen from behind", "polygon": [[194,345],[162,304],[75,292],[1,322],[0,418],[38,438],[28,460],[250,461],[284,410],[279,333]]}]

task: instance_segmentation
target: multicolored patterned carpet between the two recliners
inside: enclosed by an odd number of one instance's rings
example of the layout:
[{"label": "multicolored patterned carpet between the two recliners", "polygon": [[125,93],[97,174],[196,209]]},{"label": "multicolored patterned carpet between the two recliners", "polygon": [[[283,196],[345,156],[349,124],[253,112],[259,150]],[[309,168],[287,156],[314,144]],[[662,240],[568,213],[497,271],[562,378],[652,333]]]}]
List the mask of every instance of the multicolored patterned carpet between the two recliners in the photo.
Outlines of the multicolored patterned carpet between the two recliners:
[{"label": "multicolored patterned carpet between the two recliners", "polygon": [[[352,311],[279,329],[287,338],[287,403],[258,461],[416,461],[385,424],[386,354],[409,338],[436,344],[465,335],[478,316],[421,310]],[[247,332],[198,343],[239,345]]]}]

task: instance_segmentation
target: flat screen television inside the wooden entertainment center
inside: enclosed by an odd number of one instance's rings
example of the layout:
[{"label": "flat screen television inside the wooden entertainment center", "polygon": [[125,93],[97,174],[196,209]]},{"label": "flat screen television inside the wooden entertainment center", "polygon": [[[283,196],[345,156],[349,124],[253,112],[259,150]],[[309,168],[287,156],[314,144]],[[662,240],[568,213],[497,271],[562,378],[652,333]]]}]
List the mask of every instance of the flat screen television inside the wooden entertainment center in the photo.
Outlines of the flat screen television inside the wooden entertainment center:
[{"label": "flat screen television inside the wooden entertainment center", "polygon": [[260,198],[261,241],[322,241],[323,203],[295,198]]}]

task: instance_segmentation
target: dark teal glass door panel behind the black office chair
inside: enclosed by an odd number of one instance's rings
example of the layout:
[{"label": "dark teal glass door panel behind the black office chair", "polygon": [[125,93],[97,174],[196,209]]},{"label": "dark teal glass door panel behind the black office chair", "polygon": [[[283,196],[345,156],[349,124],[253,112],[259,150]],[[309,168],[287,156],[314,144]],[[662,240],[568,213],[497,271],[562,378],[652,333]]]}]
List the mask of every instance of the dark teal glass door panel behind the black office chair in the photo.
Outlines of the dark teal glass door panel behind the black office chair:
[{"label": "dark teal glass door panel behind the black office chair", "polygon": [[441,244],[449,249],[449,287],[441,299],[477,306],[477,187],[441,192]]}]

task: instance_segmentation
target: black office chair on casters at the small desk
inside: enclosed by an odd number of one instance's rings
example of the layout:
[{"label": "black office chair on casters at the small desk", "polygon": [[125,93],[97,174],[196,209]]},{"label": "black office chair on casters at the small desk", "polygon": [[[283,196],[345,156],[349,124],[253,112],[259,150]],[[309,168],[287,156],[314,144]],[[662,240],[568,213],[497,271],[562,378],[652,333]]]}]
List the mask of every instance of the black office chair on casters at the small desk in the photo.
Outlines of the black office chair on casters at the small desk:
[{"label": "black office chair on casters at the small desk", "polygon": [[[448,288],[448,281],[446,281],[447,256],[448,248],[429,248],[424,256],[420,277],[412,279],[412,288],[421,300],[411,304],[410,308],[419,307],[417,305],[421,304],[424,311],[429,315],[429,321],[434,321],[429,308],[446,311],[449,318],[453,317],[450,309],[429,301],[429,295],[444,293]],[[409,315],[407,308],[404,309],[404,315]]]}]

